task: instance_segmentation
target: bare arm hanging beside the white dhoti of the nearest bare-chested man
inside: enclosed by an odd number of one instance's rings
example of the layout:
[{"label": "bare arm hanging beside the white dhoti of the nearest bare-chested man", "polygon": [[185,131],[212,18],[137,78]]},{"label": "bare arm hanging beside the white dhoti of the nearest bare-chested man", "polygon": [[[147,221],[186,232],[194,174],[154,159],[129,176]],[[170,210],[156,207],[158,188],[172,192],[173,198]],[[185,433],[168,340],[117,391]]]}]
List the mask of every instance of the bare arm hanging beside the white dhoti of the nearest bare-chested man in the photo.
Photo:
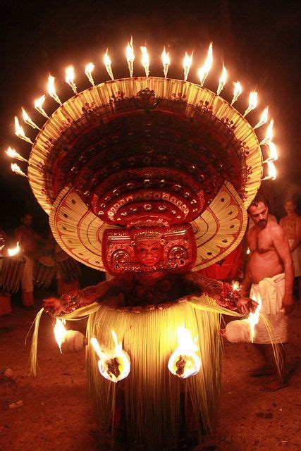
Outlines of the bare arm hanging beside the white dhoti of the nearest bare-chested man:
[{"label": "bare arm hanging beside the white dhoti of the nearest bare-chested man", "polygon": [[273,229],[272,234],[273,245],[283,261],[284,277],[285,277],[285,292],[282,306],[285,313],[289,313],[293,309],[293,285],[294,285],[294,269],[293,259],[288,245],[288,239],[285,236],[282,228]]}]

